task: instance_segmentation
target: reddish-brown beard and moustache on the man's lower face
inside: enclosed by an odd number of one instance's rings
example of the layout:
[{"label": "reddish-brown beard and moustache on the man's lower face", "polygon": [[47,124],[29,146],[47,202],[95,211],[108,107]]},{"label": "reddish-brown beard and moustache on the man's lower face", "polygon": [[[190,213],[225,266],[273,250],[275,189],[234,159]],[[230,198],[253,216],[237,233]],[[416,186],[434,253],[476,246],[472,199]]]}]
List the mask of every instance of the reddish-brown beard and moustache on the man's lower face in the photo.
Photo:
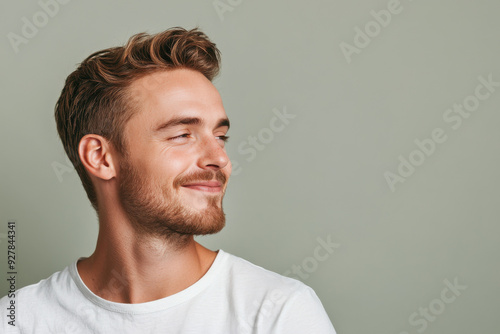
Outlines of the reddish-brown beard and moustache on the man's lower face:
[{"label": "reddish-brown beard and moustache on the man's lower face", "polygon": [[192,236],[214,234],[225,226],[223,192],[207,197],[193,196],[204,201],[204,209],[190,207],[181,201],[182,185],[210,180],[221,182],[225,191],[227,177],[221,170],[181,175],[170,186],[144,177],[132,164],[120,162],[119,200],[138,233],[165,238],[182,248]]}]

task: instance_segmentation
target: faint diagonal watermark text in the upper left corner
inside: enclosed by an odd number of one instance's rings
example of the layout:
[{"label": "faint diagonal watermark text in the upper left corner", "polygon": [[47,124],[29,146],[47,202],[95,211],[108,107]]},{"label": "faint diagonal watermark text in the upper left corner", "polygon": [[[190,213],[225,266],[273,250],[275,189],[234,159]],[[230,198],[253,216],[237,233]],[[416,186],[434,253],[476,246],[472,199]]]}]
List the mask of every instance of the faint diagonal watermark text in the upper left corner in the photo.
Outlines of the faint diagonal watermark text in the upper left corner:
[{"label": "faint diagonal watermark text in the upper left corner", "polygon": [[71,0],[40,0],[38,6],[40,10],[28,17],[21,17],[21,28],[18,33],[9,32],[7,39],[12,47],[12,50],[19,53],[20,46],[26,45],[30,40],[35,38],[41,29],[43,29],[54,18],[61,9],[61,5],[66,5]]}]

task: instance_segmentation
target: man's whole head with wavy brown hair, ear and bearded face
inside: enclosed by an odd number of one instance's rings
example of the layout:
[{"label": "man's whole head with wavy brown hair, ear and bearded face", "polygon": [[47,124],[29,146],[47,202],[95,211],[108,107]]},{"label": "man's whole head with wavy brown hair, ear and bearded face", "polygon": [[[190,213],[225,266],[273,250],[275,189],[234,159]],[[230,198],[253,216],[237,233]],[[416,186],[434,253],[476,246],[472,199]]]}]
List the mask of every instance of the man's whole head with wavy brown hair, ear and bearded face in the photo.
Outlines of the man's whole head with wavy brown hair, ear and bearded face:
[{"label": "man's whole head with wavy brown hair, ear and bearded face", "polygon": [[[202,32],[172,28],[96,52],[68,77],[57,129],[96,211],[115,189],[144,233],[207,234],[224,226],[231,163],[229,121],[211,83],[219,62]],[[206,181],[220,187],[192,185]]]}]

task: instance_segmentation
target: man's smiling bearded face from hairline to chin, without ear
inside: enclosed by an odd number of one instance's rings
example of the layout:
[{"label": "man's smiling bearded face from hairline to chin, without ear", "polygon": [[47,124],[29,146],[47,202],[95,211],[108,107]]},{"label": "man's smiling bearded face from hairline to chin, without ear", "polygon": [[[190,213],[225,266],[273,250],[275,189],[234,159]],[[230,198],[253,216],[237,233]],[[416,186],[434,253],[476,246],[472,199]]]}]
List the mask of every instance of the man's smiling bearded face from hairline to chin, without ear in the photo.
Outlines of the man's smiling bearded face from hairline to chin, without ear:
[{"label": "man's smiling bearded face from hairline to chin, without ear", "polygon": [[130,96],[138,111],[124,128],[117,179],[131,223],[174,239],[219,232],[231,162],[217,89],[199,72],[175,69],[135,81]]}]

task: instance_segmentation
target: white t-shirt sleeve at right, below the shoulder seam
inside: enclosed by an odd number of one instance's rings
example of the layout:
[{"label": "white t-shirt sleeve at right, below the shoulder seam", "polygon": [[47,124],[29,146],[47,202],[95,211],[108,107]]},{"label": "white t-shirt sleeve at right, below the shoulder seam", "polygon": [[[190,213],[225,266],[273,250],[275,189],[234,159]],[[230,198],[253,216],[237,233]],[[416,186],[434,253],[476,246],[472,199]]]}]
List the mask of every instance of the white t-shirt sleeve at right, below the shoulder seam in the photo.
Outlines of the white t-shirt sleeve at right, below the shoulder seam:
[{"label": "white t-shirt sleeve at right, below the shoulder seam", "polygon": [[303,286],[283,305],[273,333],[336,334],[323,304],[314,290]]}]

